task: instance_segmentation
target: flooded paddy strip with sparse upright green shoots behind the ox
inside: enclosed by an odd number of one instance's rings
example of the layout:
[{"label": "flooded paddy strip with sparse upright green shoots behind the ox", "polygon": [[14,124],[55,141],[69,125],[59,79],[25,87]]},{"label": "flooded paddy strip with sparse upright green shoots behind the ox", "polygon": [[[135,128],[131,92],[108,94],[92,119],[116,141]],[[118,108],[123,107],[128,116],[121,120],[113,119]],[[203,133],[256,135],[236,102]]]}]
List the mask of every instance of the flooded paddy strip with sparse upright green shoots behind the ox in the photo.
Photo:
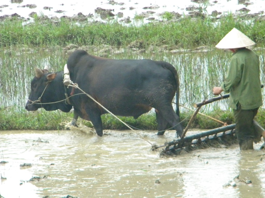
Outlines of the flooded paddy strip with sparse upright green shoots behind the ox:
[{"label": "flooded paddy strip with sparse upright green shoots behind the ox", "polygon": [[[256,48],[260,56],[260,79],[265,83],[264,49]],[[90,54],[97,55],[95,52]],[[30,91],[30,81],[34,77],[34,67],[47,65],[51,72],[63,70],[68,55],[63,49],[16,49],[0,52],[0,107],[18,106],[24,108]],[[179,74],[180,104],[192,108],[194,103],[212,98],[212,88],[219,86],[226,74],[231,53],[220,49],[201,52],[187,50],[178,53],[157,54],[112,54],[112,59],[152,59],[164,60],[174,65]],[[3,67],[1,67],[3,66]],[[265,94],[262,89],[263,95]],[[202,107],[202,111],[221,107],[227,109],[227,100]],[[265,104],[265,100],[263,101]]]}]

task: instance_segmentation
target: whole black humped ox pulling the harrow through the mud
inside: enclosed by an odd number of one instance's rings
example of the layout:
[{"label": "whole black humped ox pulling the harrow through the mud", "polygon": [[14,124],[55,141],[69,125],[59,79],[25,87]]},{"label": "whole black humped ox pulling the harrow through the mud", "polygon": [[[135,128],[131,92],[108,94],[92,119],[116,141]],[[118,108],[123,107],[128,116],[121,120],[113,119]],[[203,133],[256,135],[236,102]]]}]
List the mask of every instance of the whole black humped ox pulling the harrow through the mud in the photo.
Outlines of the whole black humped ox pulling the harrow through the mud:
[{"label": "whole black humped ox pulling the harrow through the mud", "polygon": [[[164,61],[114,60],[89,55],[84,50],[74,51],[67,60],[72,82],[92,96],[106,109],[118,116],[140,115],[155,109],[158,135],[163,135],[168,126],[179,136],[183,129],[179,118],[179,80],[173,65]],[[63,84],[63,71],[51,73],[35,68],[36,76],[30,84],[31,92],[25,108],[36,111],[43,107],[47,111],[60,109],[69,112],[74,108],[74,119],[80,116],[90,120],[96,133],[103,135],[101,115],[106,114],[101,106],[79,89]],[[176,112],[172,100],[176,94]],[[34,101],[34,102],[33,102]],[[37,102],[36,102],[37,101]],[[42,104],[51,103],[51,104]],[[72,122],[73,123],[73,122]]]}]

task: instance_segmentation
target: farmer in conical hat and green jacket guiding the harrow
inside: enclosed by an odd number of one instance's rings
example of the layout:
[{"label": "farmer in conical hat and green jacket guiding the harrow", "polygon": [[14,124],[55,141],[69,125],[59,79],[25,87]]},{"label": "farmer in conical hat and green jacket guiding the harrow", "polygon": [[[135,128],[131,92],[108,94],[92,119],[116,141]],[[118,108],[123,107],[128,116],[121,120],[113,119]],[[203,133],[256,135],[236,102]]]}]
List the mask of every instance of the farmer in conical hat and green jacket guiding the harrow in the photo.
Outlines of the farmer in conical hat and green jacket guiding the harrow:
[{"label": "farmer in conical hat and green jacket guiding the harrow", "polygon": [[213,88],[213,94],[230,92],[229,107],[233,109],[240,150],[253,149],[253,141],[259,142],[261,136],[265,141],[265,130],[253,120],[262,106],[262,95],[259,57],[246,48],[252,45],[255,42],[236,28],[216,45],[217,48],[229,49],[233,53],[224,81],[220,87]]}]

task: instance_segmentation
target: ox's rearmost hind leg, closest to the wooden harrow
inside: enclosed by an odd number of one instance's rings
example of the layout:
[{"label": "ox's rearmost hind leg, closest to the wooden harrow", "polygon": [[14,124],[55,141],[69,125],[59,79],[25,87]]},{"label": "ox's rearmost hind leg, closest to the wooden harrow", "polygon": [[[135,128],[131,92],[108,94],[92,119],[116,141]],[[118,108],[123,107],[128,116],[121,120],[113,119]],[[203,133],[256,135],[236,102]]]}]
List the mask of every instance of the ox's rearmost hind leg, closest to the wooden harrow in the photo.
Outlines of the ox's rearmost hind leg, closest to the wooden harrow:
[{"label": "ox's rearmost hind leg, closest to the wooden harrow", "polygon": [[[161,108],[162,110],[158,111],[158,114],[170,124],[171,127],[174,127],[179,136],[183,133],[182,125],[180,124],[180,118],[171,107],[171,104],[168,107]],[[164,134],[164,133],[163,133]]]}]

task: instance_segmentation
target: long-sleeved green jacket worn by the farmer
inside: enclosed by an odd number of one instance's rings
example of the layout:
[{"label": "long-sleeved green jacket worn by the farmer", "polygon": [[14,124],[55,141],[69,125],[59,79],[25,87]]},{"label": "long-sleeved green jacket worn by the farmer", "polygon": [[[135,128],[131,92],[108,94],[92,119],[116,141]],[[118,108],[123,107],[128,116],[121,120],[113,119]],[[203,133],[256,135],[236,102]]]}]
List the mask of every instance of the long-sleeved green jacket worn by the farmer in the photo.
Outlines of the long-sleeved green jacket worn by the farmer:
[{"label": "long-sleeved green jacket worn by the farmer", "polygon": [[262,105],[259,78],[259,57],[247,48],[237,50],[231,60],[221,87],[230,92],[229,107],[236,109],[239,102],[242,109],[255,109]]}]

